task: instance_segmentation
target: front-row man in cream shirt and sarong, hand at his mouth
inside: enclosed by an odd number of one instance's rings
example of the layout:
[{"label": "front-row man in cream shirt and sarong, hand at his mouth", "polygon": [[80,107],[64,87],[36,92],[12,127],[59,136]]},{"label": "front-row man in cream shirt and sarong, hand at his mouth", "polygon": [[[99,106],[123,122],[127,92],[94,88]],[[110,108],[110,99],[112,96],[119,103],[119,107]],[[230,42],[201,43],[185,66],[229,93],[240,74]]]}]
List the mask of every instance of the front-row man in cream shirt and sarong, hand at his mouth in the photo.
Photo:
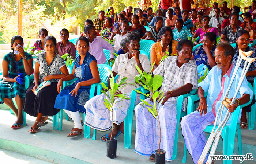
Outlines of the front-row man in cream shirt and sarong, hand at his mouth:
[{"label": "front-row man in cream shirt and sarong, hand at his mouth", "polygon": [[[127,36],[127,48],[129,52],[126,54],[120,54],[117,56],[115,63],[112,67],[112,73],[114,77],[118,74],[119,77],[116,83],[119,83],[121,79],[127,77],[127,83],[135,83],[135,76],[138,75],[138,71],[135,65],[145,72],[150,72],[150,62],[146,55],[142,55],[139,52],[140,48],[140,36],[136,32],[131,32]],[[109,79],[108,79],[109,83]],[[127,94],[127,97],[131,97],[131,92],[136,86],[128,85],[119,90],[119,94]],[[109,92],[107,92],[109,94]],[[113,109],[113,118],[111,112],[104,105],[105,94],[97,95],[86,102],[84,107],[86,108],[85,124],[91,128],[105,131],[112,127],[112,120],[114,122],[113,137],[117,137],[121,132],[124,133],[124,118],[127,115],[127,110],[130,106],[129,99],[116,99]],[[139,102],[139,96],[136,97],[136,103]],[[121,125],[120,125],[121,124]],[[103,142],[106,142],[106,138],[110,138],[111,133],[101,137]]]}]

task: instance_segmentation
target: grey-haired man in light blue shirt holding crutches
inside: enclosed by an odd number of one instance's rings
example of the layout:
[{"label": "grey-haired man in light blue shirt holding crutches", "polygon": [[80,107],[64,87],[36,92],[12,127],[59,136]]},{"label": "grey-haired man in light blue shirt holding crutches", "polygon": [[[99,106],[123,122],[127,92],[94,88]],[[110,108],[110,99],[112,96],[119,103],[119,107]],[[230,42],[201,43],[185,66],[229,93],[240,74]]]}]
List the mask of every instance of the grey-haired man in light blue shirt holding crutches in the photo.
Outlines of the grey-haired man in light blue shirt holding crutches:
[{"label": "grey-haired man in light blue shirt holding crutches", "polygon": [[[181,121],[182,134],[184,136],[188,152],[191,154],[193,162],[196,164],[203,152],[204,146],[206,145],[204,129],[207,125],[211,125],[213,124],[212,122],[215,121],[216,113],[222,103],[235,68],[232,64],[234,50],[229,43],[219,43],[214,54],[217,66],[214,66],[204,81],[198,84],[198,96],[200,101],[197,111],[183,117]],[[230,88],[228,98],[233,97],[238,81],[241,77],[241,72],[242,69],[239,68],[233,81],[233,85]],[[207,100],[204,97],[204,93],[206,91],[208,91]],[[239,93],[237,94],[236,103],[229,105],[228,108],[224,108],[222,120],[227,111],[233,112],[237,108],[238,104],[241,105],[248,102],[252,96],[253,92],[248,87],[248,83],[245,78]],[[226,125],[230,124],[231,117],[232,114]],[[240,118],[241,111],[238,121]]]}]

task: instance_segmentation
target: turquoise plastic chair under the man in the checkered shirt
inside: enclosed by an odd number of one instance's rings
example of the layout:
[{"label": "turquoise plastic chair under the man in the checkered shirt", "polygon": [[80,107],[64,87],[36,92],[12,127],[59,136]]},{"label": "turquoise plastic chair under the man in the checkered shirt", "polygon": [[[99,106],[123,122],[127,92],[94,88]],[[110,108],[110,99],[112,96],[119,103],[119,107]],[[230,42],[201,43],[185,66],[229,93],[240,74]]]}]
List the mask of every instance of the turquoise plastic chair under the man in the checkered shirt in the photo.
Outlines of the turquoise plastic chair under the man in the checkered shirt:
[{"label": "turquoise plastic chair under the man in the checkered shirt", "polygon": [[[144,89],[143,87],[139,88],[140,91],[143,93],[148,93],[148,90]],[[177,159],[177,145],[178,145],[178,129],[180,125],[180,118],[186,116],[186,112],[182,112],[182,104],[183,104],[183,99],[193,95],[196,93],[196,89],[193,89],[190,93],[180,95],[177,100],[177,115],[176,115],[176,120],[177,120],[177,125],[176,125],[176,130],[175,130],[175,138],[174,138],[174,145],[173,145],[173,154],[172,154],[172,160]],[[132,118],[133,118],[133,111],[135,108],[135,98],[136,98],[136,91],[132,91],[131,94],[131,104],[129,109],[127,110],[127,116],[125,117],[124,120],[124,148],[129,149],[131,148],[131,141],[132,141]],[[146,97],[142,94],[140,94],[140,99],[146,99]]]}]

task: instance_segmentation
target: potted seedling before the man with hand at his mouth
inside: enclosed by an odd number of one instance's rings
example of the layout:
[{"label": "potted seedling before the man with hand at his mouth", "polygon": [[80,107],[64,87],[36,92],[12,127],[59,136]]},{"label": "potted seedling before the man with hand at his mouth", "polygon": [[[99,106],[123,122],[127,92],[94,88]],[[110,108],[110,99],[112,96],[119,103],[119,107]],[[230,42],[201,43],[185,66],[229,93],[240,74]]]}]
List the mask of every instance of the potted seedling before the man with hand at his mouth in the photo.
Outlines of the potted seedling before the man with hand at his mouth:
[{"label": "potted seedling before the man with hand at his mouth", "polygon": [[[111,75],[111,78],[109,79],[110,89],[108,89],[108,87],[105,85],[105,83],[101,83],[102,87],[109,91],[109,94],[107,94],[104,90],[101,90],[101,92],[103,94],[105,94],[107,97],[104,99],[104,104],[105,104],[106,108],[108,108],[108,110],[110,110],[110,112],[112,113],[112,118],[113,118],[113,107],[114,107],[114,104],[116,104],[118,102],[118,101],[115,101],[115,99],[118,98],[118,99],[120,99],[120,101],[122,99],[129,99],[129,98],[127,98],[127,94],[118,94],[117,91],[127,85],[135,85],[135,84],[134,83],[127,84],[127,82],[126,82],[127,77],[124,77],[123,79],[121,79],[119,84],[114,83],[114,76],[110,70],[109,70],[109,72]],[[106,138],[107,139],[107,157],[109,157],[111,159],[116,158],[116,149],[117,149],[117,138],[112,137],[113,126],[114,126],[114,123],[112,120],[111,136],[110,136],[110,138]]]}]

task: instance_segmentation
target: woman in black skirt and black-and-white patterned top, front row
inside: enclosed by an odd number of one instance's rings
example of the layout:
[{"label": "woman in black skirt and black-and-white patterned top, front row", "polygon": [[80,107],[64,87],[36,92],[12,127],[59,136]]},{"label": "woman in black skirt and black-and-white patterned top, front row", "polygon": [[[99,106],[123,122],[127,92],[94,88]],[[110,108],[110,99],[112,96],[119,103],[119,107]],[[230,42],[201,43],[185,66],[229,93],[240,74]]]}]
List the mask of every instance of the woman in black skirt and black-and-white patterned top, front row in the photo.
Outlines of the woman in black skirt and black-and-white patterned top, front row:
[{"label": "woman in black skirt and black-and-white patterned top, front row", "polygon": [[[58,95],[57,83],[60,78],[68,75],[68,69],[60,55],[56,54],[56,39],[53,36],[45,38],[45,51],[38,54],[35,60],[34,81],[25,94],[24,111],[30,116],[37,117],[29,132],[37,130],[48,122],[49,116],[57,114],[60,110],[54,108],[55,99]],[[40,75],[39,75],[40,74]],[[34,94],[40,83],[50,81],[51,84]]]}]

